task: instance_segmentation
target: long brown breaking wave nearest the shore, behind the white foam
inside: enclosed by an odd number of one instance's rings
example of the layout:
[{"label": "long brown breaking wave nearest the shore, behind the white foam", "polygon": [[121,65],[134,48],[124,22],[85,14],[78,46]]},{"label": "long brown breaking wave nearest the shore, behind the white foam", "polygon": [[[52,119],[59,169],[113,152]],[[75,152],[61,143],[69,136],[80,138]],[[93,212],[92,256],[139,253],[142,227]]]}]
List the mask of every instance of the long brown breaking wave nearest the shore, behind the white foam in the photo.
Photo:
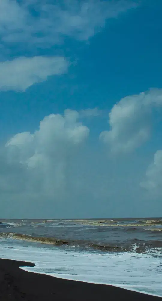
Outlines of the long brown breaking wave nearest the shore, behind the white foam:
[{"label": "long brown breaking wave nearest the shore, behind the white foam", "polygon": [[149,240],[144,241],[140,239],[133,239],[120,244],[100,244],[95,242],[90,242],[86,240],[63,240],[55,237],[36,237],[31,235],[26,235],[22,233],[12,233],[12,232],[1,232],[0,237],[2,238],[12,238],[17,240],[26,240],[41,244],[52,244],[52,245],[69,245],[72,247],[84,247],[86,249],[93,248],[95,250],[107,251],[107,252],[131,252],[131,253],[148,253],[149,250],[159,249],[162,254],[162,241],[161,240]]}]

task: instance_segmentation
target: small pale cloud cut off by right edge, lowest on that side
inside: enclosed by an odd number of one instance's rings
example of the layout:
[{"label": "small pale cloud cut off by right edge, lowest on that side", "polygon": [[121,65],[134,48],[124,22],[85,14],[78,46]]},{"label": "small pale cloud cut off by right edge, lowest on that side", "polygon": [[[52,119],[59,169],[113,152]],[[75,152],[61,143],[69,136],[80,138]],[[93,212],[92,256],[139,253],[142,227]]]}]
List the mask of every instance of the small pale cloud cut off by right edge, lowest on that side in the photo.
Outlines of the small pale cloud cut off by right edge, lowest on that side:
[{"label": "small pale cloud cut off by right edge, lowest on that side", "polygon": [[162,195],[162,150],[156,151],[154,161],[146,171],[146,179],[140,186]]}]

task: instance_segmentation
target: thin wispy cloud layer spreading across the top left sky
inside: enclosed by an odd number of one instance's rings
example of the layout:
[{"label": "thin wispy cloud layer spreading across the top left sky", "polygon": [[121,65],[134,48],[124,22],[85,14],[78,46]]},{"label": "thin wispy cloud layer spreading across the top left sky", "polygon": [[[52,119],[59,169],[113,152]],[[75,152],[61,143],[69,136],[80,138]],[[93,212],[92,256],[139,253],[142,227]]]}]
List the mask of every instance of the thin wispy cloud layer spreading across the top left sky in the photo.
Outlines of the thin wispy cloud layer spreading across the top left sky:
[{"label": "thin wispy cloud layer spreading across the top left sky", "polygon": [[1,0],[0,34],[3,42],[34,47],[49,47],[64,36],[88,40],[106,19],[136,6],[131,0]]}]

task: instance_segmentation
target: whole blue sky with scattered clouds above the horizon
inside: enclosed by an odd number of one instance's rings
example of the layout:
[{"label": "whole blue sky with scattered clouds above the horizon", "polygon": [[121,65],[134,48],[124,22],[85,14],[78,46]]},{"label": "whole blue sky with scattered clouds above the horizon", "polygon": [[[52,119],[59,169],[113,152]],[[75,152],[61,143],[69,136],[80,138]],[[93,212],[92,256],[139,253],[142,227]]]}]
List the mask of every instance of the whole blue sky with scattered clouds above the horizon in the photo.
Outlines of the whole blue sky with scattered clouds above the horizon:
[{"label": "whole blue sky with scattered clouds above the horizon", "polygon": [[1,0],[0,218],[162,216],[161,0]]}]

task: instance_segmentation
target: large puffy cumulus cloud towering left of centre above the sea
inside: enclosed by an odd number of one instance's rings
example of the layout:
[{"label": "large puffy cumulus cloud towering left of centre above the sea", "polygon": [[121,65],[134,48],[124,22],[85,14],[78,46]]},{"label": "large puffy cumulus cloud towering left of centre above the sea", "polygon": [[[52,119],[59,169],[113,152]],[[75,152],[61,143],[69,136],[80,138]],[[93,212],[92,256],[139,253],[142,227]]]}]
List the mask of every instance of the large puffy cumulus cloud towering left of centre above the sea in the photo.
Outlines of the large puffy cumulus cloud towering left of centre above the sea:
[{"label": "large puffy cumulus cloud towering left of centre above the sea", "polygon": [[0,191],[15,191],[21,183],[24,192],[42,193],[55,200],[65,197],[68,166],[89,134],[89,129],[77,121],[78,116],[76,111],[65,110],[64,116],[46,116],[34,133],[13,136],[5,145],[8,172],[7,176],[2,172]]}]

